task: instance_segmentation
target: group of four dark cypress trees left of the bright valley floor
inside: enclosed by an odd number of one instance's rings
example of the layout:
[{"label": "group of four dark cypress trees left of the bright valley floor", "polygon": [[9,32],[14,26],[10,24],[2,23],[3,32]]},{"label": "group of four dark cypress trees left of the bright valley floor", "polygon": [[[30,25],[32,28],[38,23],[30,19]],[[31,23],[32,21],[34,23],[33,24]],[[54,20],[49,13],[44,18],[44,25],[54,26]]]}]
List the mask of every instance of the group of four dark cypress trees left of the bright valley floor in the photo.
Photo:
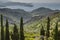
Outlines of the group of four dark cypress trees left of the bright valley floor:
[{"label": "group of four dark cypress trees left of the bright valley floor", "polygon": [[[9,23],[8,19],[6,19],[5,25],[5,37],[4,37],[4,26],[3,26],[3,15],[1,15],[1,40],[10,40],[10,33],[9,33]],[[19,36],[20,35],[20,36]],[[17,25],[14,24],[13,33],[11,32],[11,39],[12,40],[24,40],[24,30],[23,30],[23,18],[21,17],[20,20],[20,34],[18,33]]]}]

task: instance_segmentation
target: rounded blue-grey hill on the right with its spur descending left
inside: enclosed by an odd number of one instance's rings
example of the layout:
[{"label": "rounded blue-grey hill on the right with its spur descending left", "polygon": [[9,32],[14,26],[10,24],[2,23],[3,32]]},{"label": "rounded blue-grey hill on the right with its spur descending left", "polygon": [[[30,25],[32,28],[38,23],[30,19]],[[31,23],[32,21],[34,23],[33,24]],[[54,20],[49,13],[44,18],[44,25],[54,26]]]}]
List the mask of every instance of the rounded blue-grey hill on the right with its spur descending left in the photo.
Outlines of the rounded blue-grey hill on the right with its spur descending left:
[{"label": "rounded blue-grey hill on the right with its spur descending left", "polygon": [[49,8],[45,8],[45,7],[40,7],[38,9],[35,9],[31,12],[31,14],[33,15],[32,18],[27,21],[26,23],[29,23],[29,22],[33,22],[33,21],[36,21],[36,20],[40,20],[42,18],[46,18],[48,16],[52,16],[54,15],[55,13],[57,12],[60,12],[60,10],[52,10],[52,9],[49,9]]}]

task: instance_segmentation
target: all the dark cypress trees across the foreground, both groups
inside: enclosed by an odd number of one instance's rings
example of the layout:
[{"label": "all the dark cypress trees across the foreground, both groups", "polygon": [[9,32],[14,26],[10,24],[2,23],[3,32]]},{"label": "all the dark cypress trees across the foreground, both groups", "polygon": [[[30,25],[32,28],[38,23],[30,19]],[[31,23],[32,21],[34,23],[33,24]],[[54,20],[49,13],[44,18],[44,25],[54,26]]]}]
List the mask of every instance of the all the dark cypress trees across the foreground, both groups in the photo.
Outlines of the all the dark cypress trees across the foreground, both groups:
[{"label": "all the dark cypress trees across the foreground, both groups", "polygon": [[[48,38],[50,37],[50,18],[48,17],[47,20],[48,21],[47,21],[46,33],[43,26],[40,29],[40,35],[42,40],[44,40],[45,34],[46,34],[46,40],[48,40]],[[18,32],[17,25],[14,24],[13,32],[11,32],[11,35],[10,35],[8,19],[6,19],[5,27],[6,28],[5,28],[5,36],[4,36],[3,15],[1,15],[1,40],[10,40],[10,36],[12,40],[25,40],[22,17],[20,19],[20,33]],[[58,40],[60,37],[60,32],[58,31],[58,22],[56,23],[54,33],[55,33],[54,40]]]}]

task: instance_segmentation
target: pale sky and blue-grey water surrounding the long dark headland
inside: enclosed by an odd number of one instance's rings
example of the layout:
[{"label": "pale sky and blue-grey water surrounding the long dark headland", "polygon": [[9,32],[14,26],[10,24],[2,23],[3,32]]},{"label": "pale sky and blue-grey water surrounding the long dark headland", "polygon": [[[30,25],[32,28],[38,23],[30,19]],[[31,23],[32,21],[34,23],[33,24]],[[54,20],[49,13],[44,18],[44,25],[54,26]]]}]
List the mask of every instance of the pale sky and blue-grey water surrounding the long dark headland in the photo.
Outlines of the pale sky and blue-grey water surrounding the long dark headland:
[{"label": "pale sky and blue-grey water surrounding the long dark headland", "polygon": [[60,10],[60,0],[0,0],[0,2],[32,3],[34,7],[25,7],[25,6],[6,6],[5,7],[5,8],[14,8],[14,9],[24,9],[25,11],[32,11],[40,7],[46,7],[53,10],[56,10],[56,9]]}]

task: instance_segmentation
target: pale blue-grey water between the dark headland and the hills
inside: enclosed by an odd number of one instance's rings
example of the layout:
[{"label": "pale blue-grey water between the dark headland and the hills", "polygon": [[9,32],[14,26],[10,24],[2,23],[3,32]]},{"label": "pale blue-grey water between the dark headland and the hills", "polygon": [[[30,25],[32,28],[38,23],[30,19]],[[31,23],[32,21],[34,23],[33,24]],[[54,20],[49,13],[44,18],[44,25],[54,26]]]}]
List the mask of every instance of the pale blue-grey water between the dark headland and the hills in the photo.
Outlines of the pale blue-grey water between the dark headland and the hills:
[{"label": "pale blue-grey water between the dark headland and the hills", "polygon": [[[11,8],[11,9],[23,9],[25,11],[32,11],[34,9],[40,8],[40,7],[46,7],[50,8],[52,10],[60,10],[60,4],[59,3],[32,3],[33,7],[27,7],[27,6],[6,6],[4,8]],[[1,7],[0,7],[1,8]]]}]

